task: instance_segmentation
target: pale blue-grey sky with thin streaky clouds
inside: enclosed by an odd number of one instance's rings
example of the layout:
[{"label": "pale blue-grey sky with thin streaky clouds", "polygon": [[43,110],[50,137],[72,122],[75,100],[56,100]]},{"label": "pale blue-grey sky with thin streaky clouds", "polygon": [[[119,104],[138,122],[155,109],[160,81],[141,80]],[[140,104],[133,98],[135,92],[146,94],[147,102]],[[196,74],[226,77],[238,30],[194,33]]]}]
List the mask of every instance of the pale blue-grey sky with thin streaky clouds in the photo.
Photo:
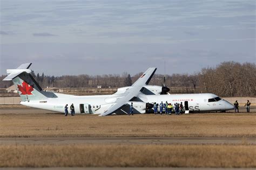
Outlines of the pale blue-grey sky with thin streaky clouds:
[{"label": "pale blue-grey sky with thin streaky clouds", "polygon": [[0,75],[25,62],[46,75],[255,63],[255,0],[0,2]]}]

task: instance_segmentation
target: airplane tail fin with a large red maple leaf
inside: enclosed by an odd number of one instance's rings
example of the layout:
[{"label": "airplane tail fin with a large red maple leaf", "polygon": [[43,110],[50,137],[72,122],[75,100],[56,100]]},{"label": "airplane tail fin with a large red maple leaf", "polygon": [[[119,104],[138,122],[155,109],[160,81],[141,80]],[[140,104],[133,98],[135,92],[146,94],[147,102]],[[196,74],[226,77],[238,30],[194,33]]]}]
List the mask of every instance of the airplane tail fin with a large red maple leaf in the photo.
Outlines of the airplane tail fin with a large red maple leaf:
[{"label": "airplane tail fin with a large red maple leaf", "polygon": [[55,94],[45,92],[30,74],[31,69],[28,69],[32,63],[24,63],[17,69],[6,70],[9,74],[3,81],[14,82],[16,89],[18,90],[21,101],[33,101],[33,100],[46,100],[49,96],[56,97]]}]

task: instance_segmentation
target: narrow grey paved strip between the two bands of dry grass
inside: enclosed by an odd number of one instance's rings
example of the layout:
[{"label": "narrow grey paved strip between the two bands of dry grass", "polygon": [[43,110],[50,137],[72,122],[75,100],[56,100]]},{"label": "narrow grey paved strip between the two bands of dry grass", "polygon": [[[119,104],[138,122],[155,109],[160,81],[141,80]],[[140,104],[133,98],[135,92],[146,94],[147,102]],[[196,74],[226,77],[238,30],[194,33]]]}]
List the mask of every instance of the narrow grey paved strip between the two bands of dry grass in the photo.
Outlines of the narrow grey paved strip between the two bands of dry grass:
[{"label": "narrow grey paved strip between the two bands of dry grass", "polygon": [[167,137],[167,138],[0,138],[0,144],[256,144],[251,138]]}]

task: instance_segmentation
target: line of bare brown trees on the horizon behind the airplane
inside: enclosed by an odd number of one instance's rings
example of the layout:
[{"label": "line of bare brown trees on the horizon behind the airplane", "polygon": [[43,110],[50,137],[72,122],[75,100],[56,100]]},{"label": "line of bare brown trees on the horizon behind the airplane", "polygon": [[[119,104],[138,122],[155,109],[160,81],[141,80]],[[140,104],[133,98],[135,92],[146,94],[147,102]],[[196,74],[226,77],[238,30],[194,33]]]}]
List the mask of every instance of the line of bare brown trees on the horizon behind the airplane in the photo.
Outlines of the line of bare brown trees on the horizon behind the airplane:
[{"label": "line of bare brown trees on the horizon behind the airplane", "polygon": [[[131,77],[128,73],[96,75],[64,75],[48,76],[42,73],[31,73],[42,88],[80,88],[97,87],[119,88],[131,86],[142,73]],[[234,61],[222,62],[215,67],[203,68],[194,74],[165,75],[166,86],[171,88],[170,93],[213,93],[218,96],[255,96],[256,92],[255,63],[239,63]],[[2,75],[0,80],[6,75]],[[161,86],[164,75],[155,74],[150,84]],[[0,88],[11,86],[12,82],[0,81]]]}]

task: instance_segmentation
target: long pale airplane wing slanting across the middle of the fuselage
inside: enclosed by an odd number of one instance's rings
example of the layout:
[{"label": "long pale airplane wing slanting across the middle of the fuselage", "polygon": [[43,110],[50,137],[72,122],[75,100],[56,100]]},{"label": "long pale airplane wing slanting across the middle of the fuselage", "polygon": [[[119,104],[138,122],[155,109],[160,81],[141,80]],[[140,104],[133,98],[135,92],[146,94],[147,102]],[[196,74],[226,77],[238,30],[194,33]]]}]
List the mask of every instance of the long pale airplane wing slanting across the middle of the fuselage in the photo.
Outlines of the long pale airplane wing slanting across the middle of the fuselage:
[{"label": "long pale airplane wing slanting across the middle of the fuselage", "polygon": [[100,116],[107,116],[111,115],[114,112],[116,112],[119,109],[122,109],[125,107],[127,102],[129,102],[133,97],[137,97],[138,94],[140,93],[140,90],[148,84],[154,75],[154,72],[156,72],[157,68],[149,68],[146,70],[145,73],[143,73],[142,76],[139,77],[139,79],[132,84],[132,86],[125,91],[122,95],[118,96],[117,100],[113,105],[105,111],[103,114]]}]

